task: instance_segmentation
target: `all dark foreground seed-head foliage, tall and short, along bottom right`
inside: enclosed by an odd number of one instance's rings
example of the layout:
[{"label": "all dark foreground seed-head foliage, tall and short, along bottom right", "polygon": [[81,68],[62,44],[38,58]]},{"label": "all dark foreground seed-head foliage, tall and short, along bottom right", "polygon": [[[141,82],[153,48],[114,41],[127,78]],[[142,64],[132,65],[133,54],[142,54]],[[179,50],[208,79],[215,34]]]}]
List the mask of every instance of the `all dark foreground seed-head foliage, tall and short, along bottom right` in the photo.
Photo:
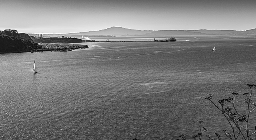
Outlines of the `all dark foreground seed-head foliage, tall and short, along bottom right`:
[{"label": "all dark foreground seed-head foliage, tall and short, along bottom right", "polygon": [[[232,97],[228,97],[226,99],[220,99],[216,103],[213,99],[213,95],[209,94],[207,97],[205,97],[206,100],[210,101],[217,110],[220,111],[220,115],[223,115],[226,121],[229,123],[229,130],[230,132],[225,128],[222,130],[224,133],[224,136],[229,138],[230,140],[255,140],[256,137],[256,131],[250,130],[250,128],[254,128],[255,124],[250,123],[250,116],[251,113],[256,108],[256,103],[252,101],[253,94],[256,91],[256,85],[254,84],[247,84],[247,86],[250,88],[250,91],[248,93],[243,93],[244,102],[246,105],[246,113],[241,113],[237,110],[237,106],[241,106],[242,103],[236,101],[238,99],[239,94],[238,93],[231,93]],[[254,95],[255,96],[255,95]],[[207,131],[206,128],[202,127],[202,123],[204,123],[202,120],[198,120],[199,123],[199,132],[196,135],[193,135],[193,140],[221,140],[220,134],[215,133],[215,136],[212,136],[210,134],[203,135]],[[253,127],[252,127],[253,126]],[[255,126],[256,129],[256,126]],[[203,138],[205,136],[205,138]],[[179,136],[180,138],[176,138],[173,140],[187,140],[186,134],[181,134]],[[189,137],[191,139],[191,136]]]}]

